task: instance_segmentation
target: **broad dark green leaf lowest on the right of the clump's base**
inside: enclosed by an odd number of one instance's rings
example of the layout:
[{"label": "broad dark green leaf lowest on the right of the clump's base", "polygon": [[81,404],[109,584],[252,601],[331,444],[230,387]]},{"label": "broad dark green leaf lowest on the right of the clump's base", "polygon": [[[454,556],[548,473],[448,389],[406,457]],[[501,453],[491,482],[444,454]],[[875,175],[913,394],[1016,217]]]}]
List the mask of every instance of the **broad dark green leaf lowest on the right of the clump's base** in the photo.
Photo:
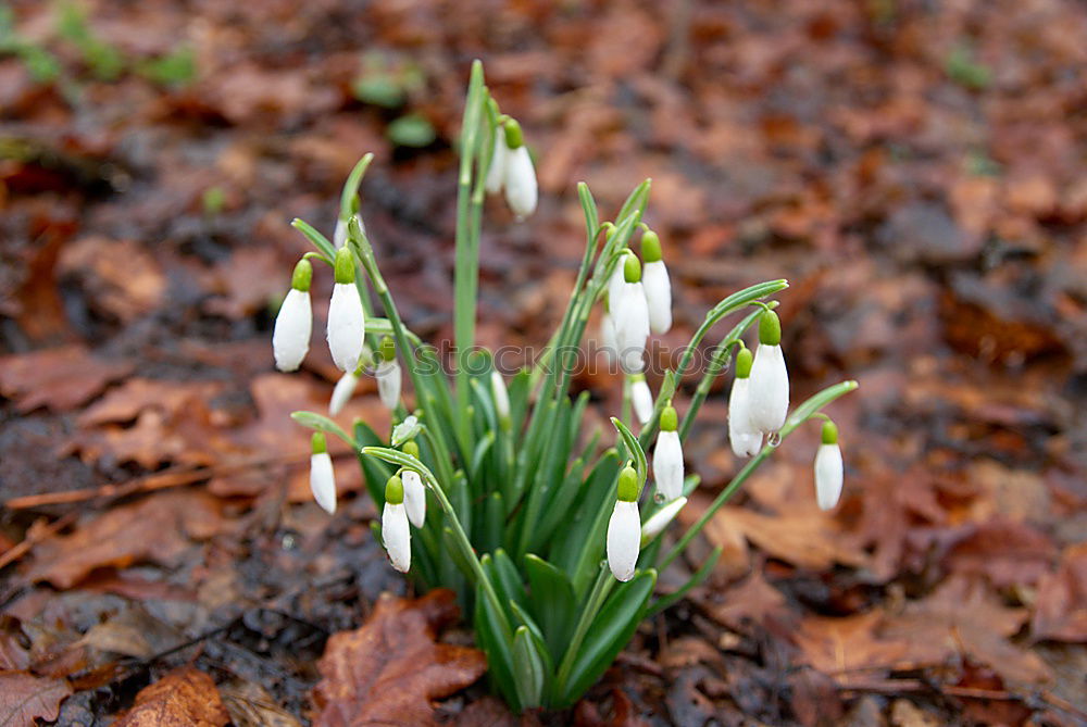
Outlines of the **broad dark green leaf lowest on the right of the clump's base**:
[{"label": "broad dark green leaf lowest on the right of the clump's base", "polygon": [[562,690],[558,706],[576,702],[615,661],[638,628],[655,584],[657,572],[650,569],[638,573],[615,588],[592,619],[566,684],[558,685]]}]

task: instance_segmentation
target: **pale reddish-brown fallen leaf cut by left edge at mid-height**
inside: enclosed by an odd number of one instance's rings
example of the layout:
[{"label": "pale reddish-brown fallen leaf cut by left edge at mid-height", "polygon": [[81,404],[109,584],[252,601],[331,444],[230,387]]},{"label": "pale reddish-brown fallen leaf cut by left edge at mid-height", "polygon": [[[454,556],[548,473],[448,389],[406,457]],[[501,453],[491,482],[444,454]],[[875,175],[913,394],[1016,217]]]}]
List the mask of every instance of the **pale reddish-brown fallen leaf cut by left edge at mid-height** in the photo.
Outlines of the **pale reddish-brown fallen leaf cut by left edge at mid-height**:
[{"label": "pale reddish-brown fallen leaf cut by left edge at mid-height", "polygon": [[38,406],[67,412],[132,369],[130,363],[103,361],[84,346],[16,353],[0,358],[0,393],[23,413]]}]

